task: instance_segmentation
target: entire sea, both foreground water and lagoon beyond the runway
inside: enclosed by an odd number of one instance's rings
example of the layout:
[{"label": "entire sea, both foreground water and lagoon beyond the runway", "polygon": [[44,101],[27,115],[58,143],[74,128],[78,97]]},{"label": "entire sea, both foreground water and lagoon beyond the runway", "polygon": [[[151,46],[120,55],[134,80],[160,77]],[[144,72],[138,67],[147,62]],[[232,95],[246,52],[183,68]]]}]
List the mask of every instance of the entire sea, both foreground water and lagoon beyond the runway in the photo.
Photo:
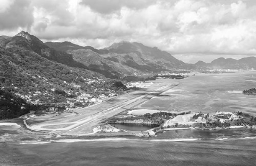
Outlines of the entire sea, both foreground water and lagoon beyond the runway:
[{"label": "entire sea, both foreground water and lagoon beyond the runway", "polygon": [[[178,86],[137,108],[173,111],[243,111],[256,114],[256,72],[196,74],[183,80],[156,80]],[[122,126],[121,126],[122,127]],[[153,138],[106,137],[4,141],[19,137],[0,127],[0,166],[256,166],[256,129],[167,131]],[[2,139],[1,139],[2,138]]]}]

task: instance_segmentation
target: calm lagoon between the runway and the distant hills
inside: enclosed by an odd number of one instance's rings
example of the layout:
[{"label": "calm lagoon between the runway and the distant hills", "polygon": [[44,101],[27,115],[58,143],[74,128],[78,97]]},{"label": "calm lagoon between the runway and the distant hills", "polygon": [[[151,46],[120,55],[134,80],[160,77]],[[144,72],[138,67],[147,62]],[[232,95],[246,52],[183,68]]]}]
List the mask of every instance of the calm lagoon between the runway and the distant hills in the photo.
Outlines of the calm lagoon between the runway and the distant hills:
[{"label": "calm lagoon between the runway and the distant hills", "polygon": [[177,84],[137,108],[178,112],[247,112],[256,115],[256,96],[244,89],[256,87],[256,72],[195,74],[182,80],[156,80]]}]

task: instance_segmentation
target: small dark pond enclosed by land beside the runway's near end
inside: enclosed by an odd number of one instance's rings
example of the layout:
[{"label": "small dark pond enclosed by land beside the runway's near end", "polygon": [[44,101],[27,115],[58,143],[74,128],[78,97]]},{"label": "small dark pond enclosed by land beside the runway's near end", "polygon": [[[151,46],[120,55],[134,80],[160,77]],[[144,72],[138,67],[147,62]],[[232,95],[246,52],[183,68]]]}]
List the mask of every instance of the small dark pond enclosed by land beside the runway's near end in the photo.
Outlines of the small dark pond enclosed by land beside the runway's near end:
[{"label": "small dark pond enclosed by land beside the runway's near end", "polygon": [[158,127],[158,125],[145,125],[145,124],[134,124],[134,123],[116,123],[112,124],[118,129],[130,130],[130,131],[145,131],[152,129],[154,127]]}]

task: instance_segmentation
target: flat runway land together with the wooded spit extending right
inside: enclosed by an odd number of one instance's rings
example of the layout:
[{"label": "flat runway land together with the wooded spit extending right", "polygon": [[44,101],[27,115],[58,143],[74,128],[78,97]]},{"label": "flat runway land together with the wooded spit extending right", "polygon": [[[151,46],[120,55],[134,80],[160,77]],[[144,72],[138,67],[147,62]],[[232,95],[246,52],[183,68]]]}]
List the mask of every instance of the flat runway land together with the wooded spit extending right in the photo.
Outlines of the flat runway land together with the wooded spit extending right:
[{"label": "flat runway land together with the wooded spit extending right", "polygon": [[[24,120],[26,127],[35,132],[62,136],[86,136],[108,133],[110,135],[137,135],[153,137],[157,132],[183,129],[228,129],[256,127],[256,117],[243,112],[169,112],[165,110],[134,109],[152,97],[175,87],[164,82],[154,82],[145,89],[115,97],[107,102],[73,110],[71,114],[56,117],[49,115]],[[144,132],[128,132],[111,126],[116,123],[157,125]],[[97,133],[97,134],[96,134]]]}]

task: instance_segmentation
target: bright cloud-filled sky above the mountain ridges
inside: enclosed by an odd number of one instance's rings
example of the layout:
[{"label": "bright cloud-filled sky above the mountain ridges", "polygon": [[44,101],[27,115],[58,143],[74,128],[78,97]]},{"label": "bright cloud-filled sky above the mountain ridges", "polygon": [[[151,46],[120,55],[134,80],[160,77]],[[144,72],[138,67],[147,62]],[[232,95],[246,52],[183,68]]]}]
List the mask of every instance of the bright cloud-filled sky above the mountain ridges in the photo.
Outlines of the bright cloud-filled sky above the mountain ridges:
[{"label": "bright cloud-filled sky above the mountain ridges", "polygon": [[97,49],[120,41],[186,63],[256,56],[256,0],[0,0],[0,35]]}]

